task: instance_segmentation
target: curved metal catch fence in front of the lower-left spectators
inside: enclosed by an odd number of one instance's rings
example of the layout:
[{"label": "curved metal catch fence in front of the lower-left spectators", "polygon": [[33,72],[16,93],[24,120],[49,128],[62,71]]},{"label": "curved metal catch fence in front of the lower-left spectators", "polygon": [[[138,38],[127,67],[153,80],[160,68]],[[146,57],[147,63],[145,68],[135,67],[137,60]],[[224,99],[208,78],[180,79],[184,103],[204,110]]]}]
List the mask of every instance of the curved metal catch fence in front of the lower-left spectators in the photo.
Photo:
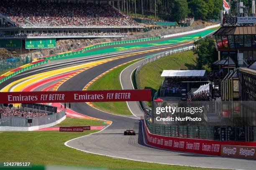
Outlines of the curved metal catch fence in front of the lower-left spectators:
[{"label": "curved metal catch fence in front of the lower-left spectators", "polygon": [[[57,120],[60,120],[66,115],[66,110],[62,110],[59,113],[54,113],[47,116],[40,117],[14,117],[14,116],[1,116],[0,127],[1,126],[11,126],[11,127],[31,127],[31,126],[40,126],[46,125]],[[32,123],[29,123],[28,120],[32,120]]]}]

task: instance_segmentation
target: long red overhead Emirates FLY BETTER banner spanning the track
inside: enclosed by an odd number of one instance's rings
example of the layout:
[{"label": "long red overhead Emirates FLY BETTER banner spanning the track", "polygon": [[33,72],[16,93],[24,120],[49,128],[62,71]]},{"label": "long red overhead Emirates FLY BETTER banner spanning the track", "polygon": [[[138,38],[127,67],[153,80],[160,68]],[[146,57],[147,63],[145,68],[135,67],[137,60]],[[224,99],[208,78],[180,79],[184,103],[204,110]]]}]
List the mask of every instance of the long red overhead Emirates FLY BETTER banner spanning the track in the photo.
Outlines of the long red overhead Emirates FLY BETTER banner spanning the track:
[{"label": "long red overhead Emirates FLY BETTER banner spanning the track", "polygon": [[0,103],[150,101],[151,90],[0,92]]}]

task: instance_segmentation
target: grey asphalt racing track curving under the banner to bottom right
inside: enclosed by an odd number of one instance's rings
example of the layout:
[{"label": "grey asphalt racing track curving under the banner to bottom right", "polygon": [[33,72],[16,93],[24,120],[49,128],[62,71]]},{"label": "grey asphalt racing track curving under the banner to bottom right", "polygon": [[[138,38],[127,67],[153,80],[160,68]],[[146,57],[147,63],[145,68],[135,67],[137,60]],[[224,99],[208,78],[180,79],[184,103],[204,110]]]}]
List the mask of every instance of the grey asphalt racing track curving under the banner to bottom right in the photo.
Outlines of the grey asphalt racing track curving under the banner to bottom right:
[{"label": "grey asphalt racing track curving under the banner to bottom right", "polygon": [[[82,90],[83,87],[90,82],[90,80],[97,77],[97,75],[100,75],[103,72],[120,65],[121,63],[134,60],[138,57],[143,57],[143,55],[146,54],[122,58],[107,62],[100,66],[92,67],[91,69],[81,72],[64,82],[58,90]],[[108,114],[97,110],[86,103],[72,103],[71,106],[72,110],[76,112],[100,119],[111,120],[113,123],[99,133],[67,142],[66,144],[69,147],[89,153],[154,163],[196,167],[200,166],[207,168],[255,170],[256,161],[254,160],[179,153],[149,147],[143,142],[143,133],[140,120]],[[136,133],[138,134],[136,136],[124,136],[124,130],[129,128],[136,130]]]}]

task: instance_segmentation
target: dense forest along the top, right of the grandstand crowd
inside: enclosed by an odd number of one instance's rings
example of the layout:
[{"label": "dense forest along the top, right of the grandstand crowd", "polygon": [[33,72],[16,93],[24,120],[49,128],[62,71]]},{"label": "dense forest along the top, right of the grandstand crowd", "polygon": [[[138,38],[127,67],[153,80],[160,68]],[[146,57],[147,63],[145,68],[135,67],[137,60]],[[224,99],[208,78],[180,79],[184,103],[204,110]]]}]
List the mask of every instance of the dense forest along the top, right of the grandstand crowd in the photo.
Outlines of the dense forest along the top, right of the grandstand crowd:
[{"label": "dense forest along the top, right of the grandstand crowd", "polygon": [[[251,0],[241,1],[251,7]],[[230,3],[231,12],[235,13],[237,1],[230,0]],[[114,6],[134,17],[177,22],[187,17],[200,20],[219,19],[219,11],[223,9],[222,0],[123,0],[115,2]]]}]

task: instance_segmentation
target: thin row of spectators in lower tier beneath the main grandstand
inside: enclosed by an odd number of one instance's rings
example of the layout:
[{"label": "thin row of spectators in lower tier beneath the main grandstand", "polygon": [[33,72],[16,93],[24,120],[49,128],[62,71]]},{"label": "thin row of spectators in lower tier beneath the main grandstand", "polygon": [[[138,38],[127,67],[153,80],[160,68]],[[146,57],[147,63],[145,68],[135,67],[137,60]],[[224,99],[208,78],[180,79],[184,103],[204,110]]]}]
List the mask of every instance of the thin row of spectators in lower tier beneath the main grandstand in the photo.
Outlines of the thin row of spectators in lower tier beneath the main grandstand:
[{"label": "thin row of spectators in lower tier beneath the main grandstand", "polygon": [[120,32],[87,32],[87,33],[69,33],[69,32],[54,32],[54,33],[43,33],[43,32],[33,32],[33,33],[18,33],[14,37],[27,37],[27,36],[102,36],[102,35],[123,35],[127,36],[127,33]]}]

